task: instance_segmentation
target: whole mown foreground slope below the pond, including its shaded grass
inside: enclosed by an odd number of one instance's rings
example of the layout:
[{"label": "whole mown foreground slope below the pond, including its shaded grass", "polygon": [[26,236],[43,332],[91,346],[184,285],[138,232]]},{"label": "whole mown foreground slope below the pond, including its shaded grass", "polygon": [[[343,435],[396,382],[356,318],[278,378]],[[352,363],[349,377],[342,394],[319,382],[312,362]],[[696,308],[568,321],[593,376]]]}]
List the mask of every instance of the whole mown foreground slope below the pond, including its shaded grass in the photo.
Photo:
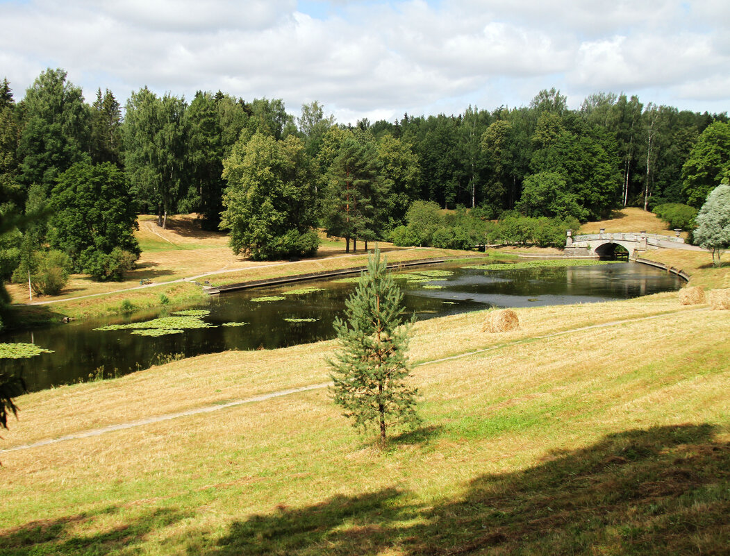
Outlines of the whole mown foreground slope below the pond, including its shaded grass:
[{"label": "whole mown foreground slope below the pond, including its shaded grass", "polygon": [[[721,554],[730,312],[667,293],[518,314],[506,334],[484,312],[415,326],[424,422],[384,452],[324,389],[4,452],[0,552]],[[3,447],[317,385],[333,348],[25,395]]]}]

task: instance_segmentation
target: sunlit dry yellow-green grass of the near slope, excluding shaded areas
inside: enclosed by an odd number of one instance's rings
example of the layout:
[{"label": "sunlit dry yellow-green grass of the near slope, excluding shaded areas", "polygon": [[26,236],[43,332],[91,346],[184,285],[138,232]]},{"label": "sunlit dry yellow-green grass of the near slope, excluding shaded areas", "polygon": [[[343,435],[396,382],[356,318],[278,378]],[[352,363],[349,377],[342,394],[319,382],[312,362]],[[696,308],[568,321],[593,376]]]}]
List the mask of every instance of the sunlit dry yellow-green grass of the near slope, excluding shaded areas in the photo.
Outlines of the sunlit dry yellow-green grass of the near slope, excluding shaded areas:
[{"label": "sunlit dry yellow-green grass of the near slope, excluding shaded areas", "polygon": [[[602,305],[609,309],[612,304]],[[624,304],[615,305],[612,310],[621,312]],[[533,325],[553,322],[542,308],[521,313]],[[590,320],[584,314],[583,323]],[[418,346],[437,343],[437,329],[466,325],[458,317],[440,326],[421,324],[415,331],[416,352]],[[684,341],[686,330],[693,331],[692,342]],[[420,444],[403,441],[387,455],[363,444],[324,390],[4,453],[0,534],[9,538],[26,524],[32,531],[42,516],[48,524],[64,523],[63,539],[107,536],[150,520],[150,512],[169,511],[169,519],[150,530],[128,530],[124,544],[137,544],[138,552],[148,554],[215,552],[237,523],[254,514],[277,520],[287,509],[313,506],[317,515],[327,515],[334,510],[328,509],[331,499],[342,499],[347,511],[355,503],[348,504],[349,497],[374,495],[377,500],[388,489],[406,493],[394,504],[431,507],[461,497],[482,477],[519,474],[610,433],[677,423],[715,423],[725,427],[718,435],[729,430],[730,370],[718,354],[730,351],[730,313],[679,309],[653,320],[577,331],[569,339],[540,339],[544,332],[536,326],[530,341],[416,368],[413,381],[426,401],[426,425],[440,432]],[[481,336],[474,347],[492,345],[490,338]],[[230,353],[220,360],[204,356],[110,383],[23,396],[21,420],[12,423],[4,444],[38,434],[26,426],[31,414],[40,436],[54,436],[55,422],[77,418],[72,407],[83,414],[85,405],[101,404],[101,398],[115,398],[117,406],[127,406],[127,417],[137,418],[137,406],[128,405],[137,395],[147,404],[162,400],[172,407],[177,399],[185,406],[221,385],[260,391],[277,387],[283,374],[294,382],[302,374],[321,376],[326,372],[321,355],[330,346]],[[298,362],[296,369],[292,360]],[[150,381],[147,388],[135,385],[142,377]],[[188,386],[197,382],[199,390],[188,394],[183,387],[175,394],[177,378]],[[119,389],[108,390],[112,383]],[[73,390],[79,397],[64,399]],[[112,408],[112,402],[97,409],[99,425],[123,411]],[[409,513],[400,518],[404,527],[418,525],[420,512]],[[83,517],[74,520],[78,515]],[[360,520],[337,521],[337,528],[356,540]],[[363,534],[375,542],[377,531],[368,528]],[[107,546],[109,552],[112,548]],[[326,538],[307,553],[334,552],[375,553],[362,547],[337,551]]]}]

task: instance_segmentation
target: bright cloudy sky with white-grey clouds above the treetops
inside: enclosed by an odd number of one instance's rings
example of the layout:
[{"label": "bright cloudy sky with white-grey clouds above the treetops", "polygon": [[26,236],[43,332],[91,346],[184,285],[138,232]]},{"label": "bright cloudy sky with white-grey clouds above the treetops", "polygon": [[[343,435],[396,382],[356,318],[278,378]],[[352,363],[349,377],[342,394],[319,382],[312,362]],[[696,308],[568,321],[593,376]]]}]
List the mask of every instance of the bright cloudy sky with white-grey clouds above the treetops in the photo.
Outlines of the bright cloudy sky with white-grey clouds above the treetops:
[{"label": "bright cloudy sky with white-grey clouds above the treetops", "polygon": [[341,123],[520,106],[556,87],[730,110],[730,1],[0,0],[0,78],[324,104]]}]

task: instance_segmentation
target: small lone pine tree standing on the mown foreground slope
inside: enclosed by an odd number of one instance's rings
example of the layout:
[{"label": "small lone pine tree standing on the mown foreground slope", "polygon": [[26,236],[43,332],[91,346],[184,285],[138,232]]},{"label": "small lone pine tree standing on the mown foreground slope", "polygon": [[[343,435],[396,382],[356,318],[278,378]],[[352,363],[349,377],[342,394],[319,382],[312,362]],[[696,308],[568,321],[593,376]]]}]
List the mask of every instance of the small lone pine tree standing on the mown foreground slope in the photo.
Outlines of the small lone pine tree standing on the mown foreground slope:
[{"label": "small lone pine tree standing on the mown foreground slope", "polygon": [[381,444],[391,425],[412,428],[419,422],[418,391],[405,382],[410,372],[406,350],[412,321],[404,319],[402,301],[403,293],[386,272],[376,247],[355,293],[345,302],[346,320],[334,322],[342,348],[329,360],[334,403],[345,409],[354,427],[379,427]]}]

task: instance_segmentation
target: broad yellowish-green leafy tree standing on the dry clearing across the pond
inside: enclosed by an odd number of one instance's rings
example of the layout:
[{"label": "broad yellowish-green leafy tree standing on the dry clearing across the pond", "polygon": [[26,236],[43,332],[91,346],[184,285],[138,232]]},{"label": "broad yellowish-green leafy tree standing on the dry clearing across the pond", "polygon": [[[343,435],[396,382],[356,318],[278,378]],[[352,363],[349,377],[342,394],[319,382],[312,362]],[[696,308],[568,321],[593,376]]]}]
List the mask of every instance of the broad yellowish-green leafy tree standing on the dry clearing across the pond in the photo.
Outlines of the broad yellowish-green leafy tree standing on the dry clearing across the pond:
[{"label": "broad yellowish-green leafy tree standing on the dry clearing across the pond", "polygon": [[316,252],[314,180],[300,139],[242,138],[223,161],[223,177],[220,225],[230,230],[236,254],[271,259]]}]

